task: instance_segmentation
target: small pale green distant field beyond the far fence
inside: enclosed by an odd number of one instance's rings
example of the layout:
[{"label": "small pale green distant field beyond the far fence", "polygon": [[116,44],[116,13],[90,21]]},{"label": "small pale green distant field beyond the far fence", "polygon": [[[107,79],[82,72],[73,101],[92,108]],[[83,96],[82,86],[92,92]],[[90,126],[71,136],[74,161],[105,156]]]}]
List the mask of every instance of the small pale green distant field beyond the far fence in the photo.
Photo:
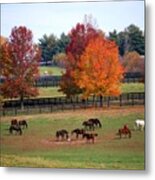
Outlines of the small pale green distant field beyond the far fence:
[{"label": "small pale green distant field beyond the far fence", "polygon": [[51,66],[40,66],[39,70],[41,75],[44,75],[45,71],[47,71],[49,75],[55,75],[55,76],[60,76],[62,75],[62,72],[65,71],[65,69],[63,68],[51,67]]}]

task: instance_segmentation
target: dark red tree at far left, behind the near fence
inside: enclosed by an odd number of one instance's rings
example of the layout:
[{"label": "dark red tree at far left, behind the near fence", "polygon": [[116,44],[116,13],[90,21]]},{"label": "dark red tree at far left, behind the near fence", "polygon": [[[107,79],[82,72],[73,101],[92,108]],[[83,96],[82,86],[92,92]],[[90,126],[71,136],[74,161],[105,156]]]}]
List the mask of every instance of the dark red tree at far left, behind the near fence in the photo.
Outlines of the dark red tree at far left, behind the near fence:
[{"label": "dark red tree at far left, behind the near fence", "polygon": [[26,27],[14,27],[8,43],[2,47],[0,67],[5,81],[0,86],[4,97],[20,98],[21,108],[25,97],[36,96],[35,80],[39,76],[40,49],[33,44],[32,32]]}]

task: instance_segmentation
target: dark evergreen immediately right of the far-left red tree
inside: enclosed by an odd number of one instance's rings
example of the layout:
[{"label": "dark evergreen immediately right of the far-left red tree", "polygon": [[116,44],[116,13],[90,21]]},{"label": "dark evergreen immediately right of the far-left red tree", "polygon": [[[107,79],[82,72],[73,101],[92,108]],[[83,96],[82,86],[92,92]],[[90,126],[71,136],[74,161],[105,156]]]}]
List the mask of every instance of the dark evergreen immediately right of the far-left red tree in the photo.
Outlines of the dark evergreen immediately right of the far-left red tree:
[{"label": "dark evergreen immediately right of the far-left red tree", "polygon": [[57,46],[57,38],[53,34],[47,36],[46,34],[43,35],[41,39],[39,39],[39,47],[42,50],[41,57],[46,65],[48,61],[53,60],[53,56],[59,52],[59,48]]}]

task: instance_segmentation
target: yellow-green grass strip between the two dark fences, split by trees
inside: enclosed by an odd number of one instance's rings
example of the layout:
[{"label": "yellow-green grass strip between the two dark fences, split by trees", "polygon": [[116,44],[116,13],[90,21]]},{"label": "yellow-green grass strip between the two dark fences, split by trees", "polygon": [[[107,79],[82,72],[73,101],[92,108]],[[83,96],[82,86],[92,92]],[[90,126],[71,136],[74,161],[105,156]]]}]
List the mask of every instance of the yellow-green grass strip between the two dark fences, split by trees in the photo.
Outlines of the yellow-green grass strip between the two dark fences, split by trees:
[{"label": "yellow-green grass strip between the two dark fences, split by trees", "polygon": [[[64,96],[62,92],[58,92],[59,87],[47,87],[39,88],[39,96],[40,97],[56,97],[56,96]],[[121,90],[123,93],[128,92],[144,92],[144,84],[143,83],[122,83]]]}]

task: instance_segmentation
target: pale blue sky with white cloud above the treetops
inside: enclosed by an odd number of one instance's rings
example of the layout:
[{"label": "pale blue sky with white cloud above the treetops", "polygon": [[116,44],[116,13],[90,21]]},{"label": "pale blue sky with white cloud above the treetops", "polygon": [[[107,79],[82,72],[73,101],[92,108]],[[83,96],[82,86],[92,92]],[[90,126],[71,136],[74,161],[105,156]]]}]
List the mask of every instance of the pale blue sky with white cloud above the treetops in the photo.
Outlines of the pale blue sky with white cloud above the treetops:
[{"label": "pale blue sky with white cloud above the treetops", "polygon": [[44,34],[57,37],[91,15],[106,35],[135,24],[144,31],[144,1],[1,4],[1,35],[9,37],[14,26],[26,26],[38,42]]}]

